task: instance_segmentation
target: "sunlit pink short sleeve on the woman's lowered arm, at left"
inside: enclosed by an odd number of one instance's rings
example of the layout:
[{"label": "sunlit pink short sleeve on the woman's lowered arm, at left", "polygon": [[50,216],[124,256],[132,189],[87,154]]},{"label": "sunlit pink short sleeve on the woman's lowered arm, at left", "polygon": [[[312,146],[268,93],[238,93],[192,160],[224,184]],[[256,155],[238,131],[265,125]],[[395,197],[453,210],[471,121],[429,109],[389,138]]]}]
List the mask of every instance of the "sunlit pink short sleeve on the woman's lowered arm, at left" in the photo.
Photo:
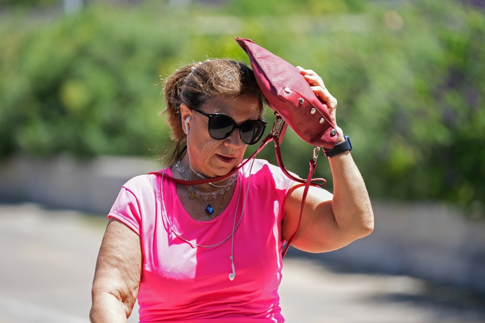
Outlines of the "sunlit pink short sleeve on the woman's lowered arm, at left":
[{"label": "sunlit pink short sleeve on the woman's lowered arm, at left", "polygon": [[141,214],[140,205],[136,196],[128,188],[123,186],[116,198],[108,219],[115,218],[140,235]]}]

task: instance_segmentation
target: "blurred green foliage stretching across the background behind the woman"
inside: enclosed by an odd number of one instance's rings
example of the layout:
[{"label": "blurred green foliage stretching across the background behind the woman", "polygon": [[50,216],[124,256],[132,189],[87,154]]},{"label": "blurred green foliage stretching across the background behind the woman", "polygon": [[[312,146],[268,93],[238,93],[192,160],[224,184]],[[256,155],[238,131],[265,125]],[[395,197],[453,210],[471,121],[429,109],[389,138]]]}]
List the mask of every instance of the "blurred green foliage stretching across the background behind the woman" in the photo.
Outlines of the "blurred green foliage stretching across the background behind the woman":
[{"label": "blurred green foliage stretching across the background behind the woman", "polygon": [[[157,1],[88,3],[67,15],[46,12],[50,2],[28,3],[6,2],[0,12],[3,158],[155,158],[168,140],[160,77],[212,57],[247,61],[240,36],[322,76],[372,197],[445,200],[484,213],[482,9],[448,0]],[[289,170],[306,176],[311,153],[287,134]],[[260,157],[275,162],[271,147]],[[324,158],[316,175],[331,189]]]}]

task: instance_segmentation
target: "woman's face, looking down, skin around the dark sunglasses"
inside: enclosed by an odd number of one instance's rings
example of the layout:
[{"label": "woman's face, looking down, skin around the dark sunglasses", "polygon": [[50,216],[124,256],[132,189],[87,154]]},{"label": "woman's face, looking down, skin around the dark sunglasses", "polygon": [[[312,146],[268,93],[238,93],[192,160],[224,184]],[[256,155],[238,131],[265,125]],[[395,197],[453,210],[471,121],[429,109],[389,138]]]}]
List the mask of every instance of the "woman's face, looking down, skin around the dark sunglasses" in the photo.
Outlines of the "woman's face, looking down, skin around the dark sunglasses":
[{"label": "woman's face, looking down, skin around the dark sunglasses", "polygon": [[[200,107],[205,113],[226,115],[237,125],[248,120],[259,119],[258,99],[255,96],[244,95],[235,98],[215,97]],[[188,122],[187,154],[184,164],[188,164],[188,154],[192,169],[205,177],[226,175],[243,159],[247,144],[239,135],[239,130],[225,139],[214,139],[208,131],[209,118],[187,106],[181,106],[182,123],[190,116]]]}]

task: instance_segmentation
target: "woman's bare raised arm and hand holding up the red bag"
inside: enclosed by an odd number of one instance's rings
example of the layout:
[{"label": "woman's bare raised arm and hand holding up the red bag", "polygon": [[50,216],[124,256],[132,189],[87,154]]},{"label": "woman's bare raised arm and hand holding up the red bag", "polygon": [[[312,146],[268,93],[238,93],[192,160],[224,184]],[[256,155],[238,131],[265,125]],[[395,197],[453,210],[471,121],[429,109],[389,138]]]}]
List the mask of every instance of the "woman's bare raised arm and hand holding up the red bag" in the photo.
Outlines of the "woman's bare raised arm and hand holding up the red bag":
[{"label": "woman's bare raised arm and hand holding up the red bag", "polygon": [[[342,129],[336,123],[337,100],[328,92],[322,79],[312,70],[299,68],[314,93],[328,106],[337,142],[344,141]],[[374,214],[364,180],[350,151],[328,158],[333,178],[333,195],[310,187],[293,245],[309,252],[325,252],[341,248],[369,235],[374,229]],[[302,185],[288,193],[283,222],[283,238],[289,239],[297,230],[303,197]]]}]

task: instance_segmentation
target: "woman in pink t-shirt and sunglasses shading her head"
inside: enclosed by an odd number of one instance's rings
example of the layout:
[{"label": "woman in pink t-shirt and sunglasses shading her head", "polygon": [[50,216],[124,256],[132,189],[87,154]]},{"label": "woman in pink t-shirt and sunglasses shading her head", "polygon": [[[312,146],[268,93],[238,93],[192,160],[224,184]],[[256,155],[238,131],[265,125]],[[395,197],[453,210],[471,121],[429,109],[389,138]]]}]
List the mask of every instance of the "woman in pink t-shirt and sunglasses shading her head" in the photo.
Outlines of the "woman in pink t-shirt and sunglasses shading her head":
[{"label": "woman in pink t-shirt and sunglasses shading her head", "polygon": [[[318,75],[299,69],[335,122],[335,98]],[[229,60],[184,66],[166,80],[165,100],[171,166],[131,179],[115,201],[96,264],[91,322],[125,322],[136,298],[140,322],[283,322],[281,251],[297,230],[302,185],[261,159],[217,183],[169,179],[226,175],[261,138],[264,98],[252,70]],[[373,230],[350,152],[328,159],[334,193],[310,188],[293,241],[301,250],[335,250]]]}]

